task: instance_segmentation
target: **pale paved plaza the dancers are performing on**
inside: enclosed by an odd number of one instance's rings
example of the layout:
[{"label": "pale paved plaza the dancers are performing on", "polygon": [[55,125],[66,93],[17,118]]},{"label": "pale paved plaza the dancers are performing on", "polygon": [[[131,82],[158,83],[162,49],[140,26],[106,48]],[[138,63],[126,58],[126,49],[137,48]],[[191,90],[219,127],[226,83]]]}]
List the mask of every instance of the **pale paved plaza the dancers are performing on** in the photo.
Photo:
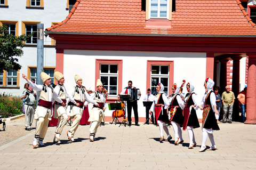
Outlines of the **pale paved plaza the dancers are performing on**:
[{"label": "pale paved plaza the dancers are performing on", "polygon": [[[8,125],[8,124],[7,124]],[[10,125],[11,126],[11,125]],[[53,144],[55,127],[49,127],[46,147],[33,148],[35,131],[0,146],[1,169],[256,169],[256,125],[220,123],[215,131],[215,151],[198,152],[201,128],[194,130],[197,146],[188,149],[187,131],[183,144],[159,142],[159,128],[150,124],[131,127],[106,123],[98,129],[99,141],[89,140],[89,125],[79,126],[76,143]],[[6,126],[7,128],[7,126]],[[169,131],[174,138],[172,126]],[[0,132],[0,135],[3,132]],[[166,136],[166,134],[164,134]],[[209,138],[206,141],[211,146]]]}]

